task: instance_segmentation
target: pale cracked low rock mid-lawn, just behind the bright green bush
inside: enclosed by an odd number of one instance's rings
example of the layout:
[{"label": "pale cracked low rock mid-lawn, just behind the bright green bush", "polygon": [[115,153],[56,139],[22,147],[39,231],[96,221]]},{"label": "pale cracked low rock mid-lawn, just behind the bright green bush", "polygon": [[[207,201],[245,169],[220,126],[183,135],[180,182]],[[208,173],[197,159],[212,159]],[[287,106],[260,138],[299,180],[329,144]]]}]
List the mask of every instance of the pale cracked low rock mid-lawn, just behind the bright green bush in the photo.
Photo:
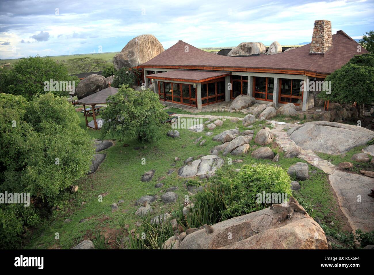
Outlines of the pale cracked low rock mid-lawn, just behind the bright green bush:
[{"label": "pale cracked low rock mid-lawn, just behind the bright green bush", "polygon": [[214,173],[224,164],[224,160],[216,155],[203,156],[201,159],[191,162],[178,170],[180,177],[204,176],[208,172]]}]

